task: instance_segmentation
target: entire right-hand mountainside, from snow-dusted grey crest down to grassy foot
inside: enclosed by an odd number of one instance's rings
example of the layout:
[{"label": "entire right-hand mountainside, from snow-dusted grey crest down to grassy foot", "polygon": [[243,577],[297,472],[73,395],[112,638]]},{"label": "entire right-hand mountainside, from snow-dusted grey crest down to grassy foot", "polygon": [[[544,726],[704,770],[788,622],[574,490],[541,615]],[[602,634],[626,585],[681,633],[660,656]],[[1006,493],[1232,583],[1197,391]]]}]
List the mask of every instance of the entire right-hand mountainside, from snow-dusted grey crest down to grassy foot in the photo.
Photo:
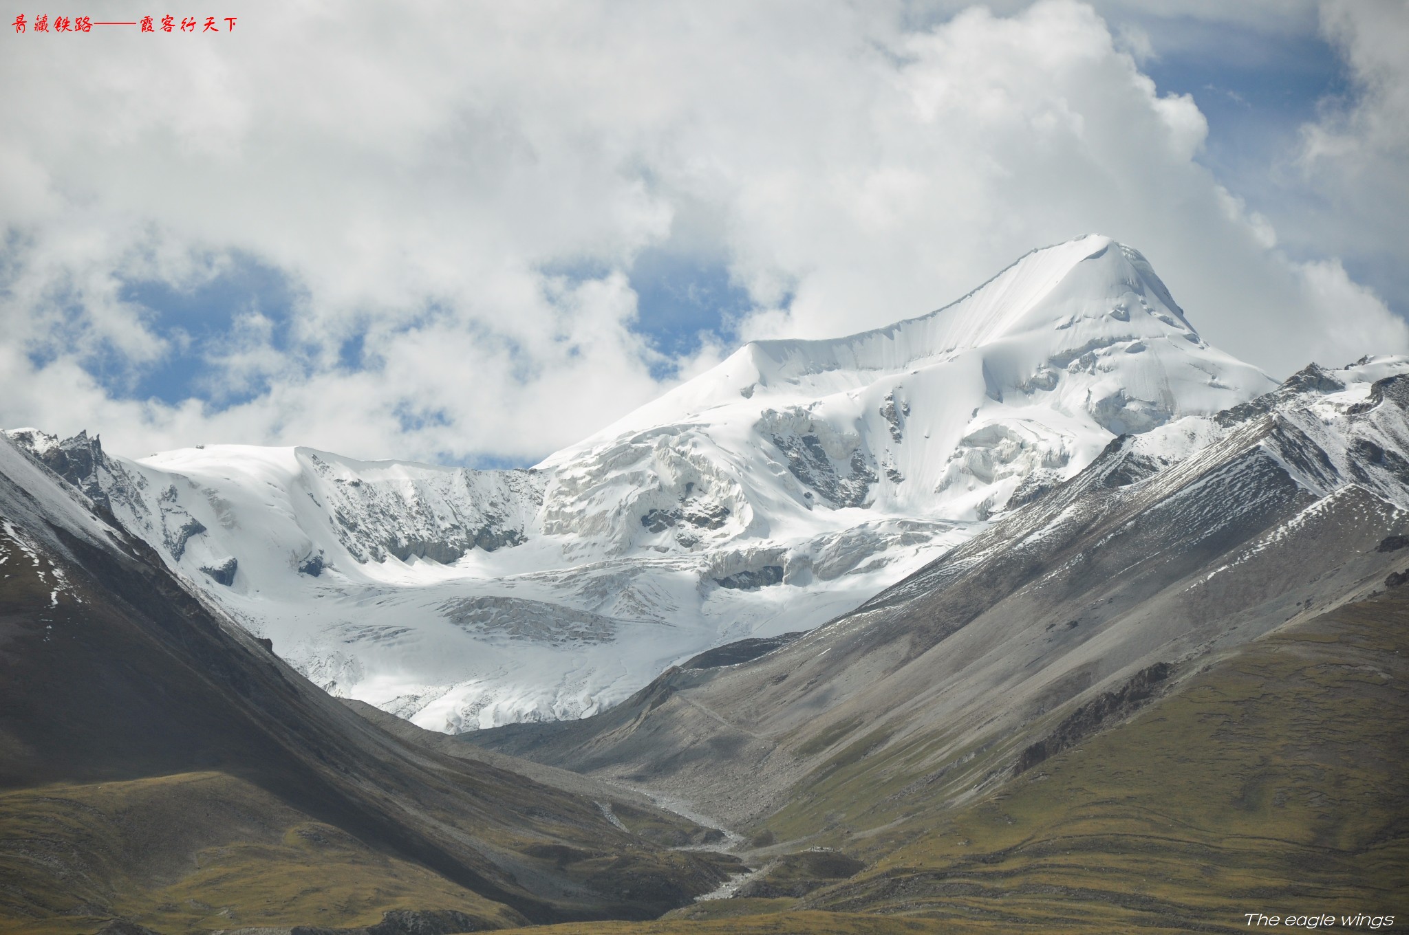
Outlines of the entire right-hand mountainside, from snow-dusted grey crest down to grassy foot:
[{"label": "entire right-hand mountainside, from snow-dusted grey crest down to grassy foot", "polygon": [[1409,368],[1312,365],[765,655],[459,739],[675,794],[755,866],[869,863],[751,911],[1231,931],[1253,894],[1399,898],[1406,534]]}]

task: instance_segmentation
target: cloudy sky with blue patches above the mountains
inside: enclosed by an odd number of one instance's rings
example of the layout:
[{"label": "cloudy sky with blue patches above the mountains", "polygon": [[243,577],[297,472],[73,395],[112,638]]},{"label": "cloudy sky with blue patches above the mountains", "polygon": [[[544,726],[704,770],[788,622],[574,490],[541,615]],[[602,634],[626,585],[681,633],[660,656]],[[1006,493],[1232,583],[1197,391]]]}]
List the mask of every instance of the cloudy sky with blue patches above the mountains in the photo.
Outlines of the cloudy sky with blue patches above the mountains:
[{"label": "cloudy sky with blue patches above the mountains", "polygon": [[1409,352],[1401,0],[85,3],[154,31],[3,0],[6,427],[530,465],[1088,232],[1275,377]]}]

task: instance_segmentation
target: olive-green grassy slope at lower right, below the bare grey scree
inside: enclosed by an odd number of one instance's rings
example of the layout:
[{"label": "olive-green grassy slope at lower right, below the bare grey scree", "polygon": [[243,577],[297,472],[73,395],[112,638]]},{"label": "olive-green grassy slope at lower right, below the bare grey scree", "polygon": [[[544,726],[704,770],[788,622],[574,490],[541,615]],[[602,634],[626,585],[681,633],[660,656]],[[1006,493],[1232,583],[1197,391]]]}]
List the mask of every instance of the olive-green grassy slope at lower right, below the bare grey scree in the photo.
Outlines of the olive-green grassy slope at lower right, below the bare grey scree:
[{"label": "olive-green grassy slope at lower right, below the bare grey scree", "polygon": [[[1394,914],[1409,907],[1406,738],[1409,594],[1391,591],[1243,646],[955,810],[934,791],[944,783],[858,797],[843,773],[867,760],[838,766],[778,822],[830,815],[828,836],[848,843],[837,815],[871,828],[895,815],[850,849],[900,843],[800,901],[535,931],[1233,931],[1248,911]],[[721,918],[731,908],[769,914]],[[909,928],[917,917],[936,928]]]}]

